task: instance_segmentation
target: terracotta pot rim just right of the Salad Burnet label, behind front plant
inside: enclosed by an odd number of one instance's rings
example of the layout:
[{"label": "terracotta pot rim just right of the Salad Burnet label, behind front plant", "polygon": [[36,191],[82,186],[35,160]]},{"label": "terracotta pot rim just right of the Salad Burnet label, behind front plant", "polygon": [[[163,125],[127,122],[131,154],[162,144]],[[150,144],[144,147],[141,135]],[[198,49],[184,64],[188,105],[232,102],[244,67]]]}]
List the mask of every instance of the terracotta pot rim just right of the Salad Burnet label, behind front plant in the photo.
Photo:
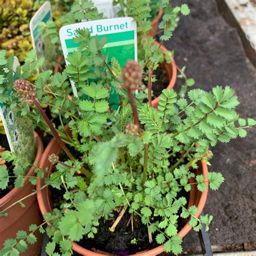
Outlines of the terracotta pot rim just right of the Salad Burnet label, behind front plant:
[{"label": "terracotta pot rim just right of the Salad Burnet label, behind front plant", "polygon": [[[154,41],[154,44],[159,44],[159,43]],[[166,53],[168,51],[163,45],[161,45],[161,49],[163,50],[164,53]],[[177,80],[177,67],[176,67],[175,61],[172,56],[170,56],[170,59],[171,59],[171,63],[167,63],[167,62],[163,63],[163,67],[165,69],[167,79],[169,80],[169,84],[166,87],[166,89],[172,89]],[[157,98],[152,100],[152,106],[155,109],[158,106],[159,100],[160,100],[160,96],[158,96]]]}]

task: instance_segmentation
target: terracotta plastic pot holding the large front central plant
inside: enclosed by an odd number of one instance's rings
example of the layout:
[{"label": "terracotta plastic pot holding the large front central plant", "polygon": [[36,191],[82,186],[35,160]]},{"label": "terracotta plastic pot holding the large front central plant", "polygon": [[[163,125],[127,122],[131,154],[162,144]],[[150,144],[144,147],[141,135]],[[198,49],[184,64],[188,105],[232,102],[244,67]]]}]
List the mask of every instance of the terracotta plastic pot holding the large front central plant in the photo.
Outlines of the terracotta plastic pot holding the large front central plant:
[{"label": "terracotta plastic pot holding the large front central plant", "polygon": [[[59,154],[60,153],[60,146],[58,145],[57,141],[55,138],[53,138],[51,140],[51,142],[49,143],[49,145],[46,147],[43,156],[42,156],[42,160],[40,163],[40,167],[42,169],[45,169],[46,167],[48,167],[49,173],[48,176],[50,175],[52,169],[53,169],[53,165],[49,162],[48,160],[48,156],[52,153],[55,154]],[[205,163],[203,163],[202,161],[199,161],[198,163],[199,167],[198,170],[196,170],[196,174],[203,174],[204,175],[204,180],[205,180],[205,185],[207,186],[207,190],[205,190],[204,192],[200,192],[197,189],[197,186],[192,184],[191,185],[191,191],[190,191],[190,199],[188,202],[188,207],[190,207],[191,205],[196,205],[198,207],[198,212],[195,215],[197,218],[200,216],[201,212],[203,211],[203,208],[205,206],[206,203],[206,198],[207,198],[207,193],[208,193],[208,179],[207,179],[207,165]],[[195,179],[191,179],[190,183],[195,183],[196,180]],[[44,185],[44,180],[43,179],[39,179],[37,182],[37,190],[40,190],[40,188]],[[38,204],[40,207],[40,210],[42,212],[42,214],[45,214],[46,212],[51,212],[52,208],[51,208],[51,199],[50,199],[50,190],[49,188],[44,188],[43,190],[40,190],[37,193],[37,200],[38,200]],[[191,226],[186,224],[178,233],[178,235],[183,238],[185,237],[185,235],[191,230]],[[87,255],[87,256],[97,256],[97,255],[113,255],[110,253],[105,253],[102,251],[96,251],[96,252],[92,252],[89,250],[86,250],[85,248],[79,246],[78,244],[76,244],[75,242],[72,243],[73,244],[73,250],[82,254],[82,255]],[[143,256],[153,256],[153,255],[157,255],[159,253],[164,252],[164,246],[160,245],[152,250],[149,251],[144,251],[144,252],[138,252],[136,254],[132,254],[132,255],[143,255]]]}]

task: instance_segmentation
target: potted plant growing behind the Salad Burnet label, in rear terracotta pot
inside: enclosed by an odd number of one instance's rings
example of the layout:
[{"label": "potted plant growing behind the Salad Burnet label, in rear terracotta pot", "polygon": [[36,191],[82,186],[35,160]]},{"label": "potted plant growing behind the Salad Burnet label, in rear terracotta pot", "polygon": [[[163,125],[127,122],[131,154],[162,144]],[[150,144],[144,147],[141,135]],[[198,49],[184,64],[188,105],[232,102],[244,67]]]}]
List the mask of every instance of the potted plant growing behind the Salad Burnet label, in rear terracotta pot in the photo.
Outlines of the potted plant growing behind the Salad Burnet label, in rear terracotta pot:
[{"label": "potted plant growing behind the Salad Burnet label, in rear terracotta pot", "polygon": [[[39,1],[40,3],[40,1]],[[120,4],[121,11],[119,16],[133,17],[138,24],[138,59],[142,64],[143,68],[147,70],[148,75],[153,77],[153,98],[152,104],[157,107],[159,102],[159,96],[163,89],[171,89],[177,79],[177,69],[180,72],[181,78],[185,79],[184,88],[192,86],[194,84],[192,78],[187,78],[184,69],[180,69],[174,62],[173,52],[168,51],[164,46],[164,41],[168,41],[172,37],[172,31],[176,28],[178,15],[188,15],[190,10],[186,4],[181,6],[172,7],[169,3],[161,3],[160,8],[164,9],[165,16],[163,21],[159,24],[161,32],[165,31],[165,34],[160,37],[160,41],[156,42],[152,35],[152,24],[151,20],[147,19],[152,16],[153,12],[156,12],[159,4],[152,4],[151,1],[113,1],[113,4]],[[41,23],[41,32],[43,37],[50,38],[49,44],[54,46],[57,44],[60,47],[58,41],[58,28],[61,25],[67,25],[72,23],[80,23],[89,20],[103,19],[104,14],[98,12],[97,8],[89,0],[83,2],[73,1],[71,5],[71,11],[67,11],[65,15],[58,19],[57,26],[53,22]],[[61,24],[61,25],[60,25]],[[49,46],[51,49],[51,46]],[[157,49],[160,51],[157,51]],[[154,54],[162,55],[160,57],[159,65],[152,65],[154,60]],[[61,62],[61,57],[58,58],[55,71],[64,69],[64,64]],[[143,63],[144,62],[144,63]],[[154,62],[154,61],[153,61]],[[109,63],[111,65],[111,63]],[[152,73],[152,75],[151,75]],[[157,77],[157,79],[155,79]],[[147,82],[145,82],[147,85]],[[150,85],[151,86],[151,85]]]}]

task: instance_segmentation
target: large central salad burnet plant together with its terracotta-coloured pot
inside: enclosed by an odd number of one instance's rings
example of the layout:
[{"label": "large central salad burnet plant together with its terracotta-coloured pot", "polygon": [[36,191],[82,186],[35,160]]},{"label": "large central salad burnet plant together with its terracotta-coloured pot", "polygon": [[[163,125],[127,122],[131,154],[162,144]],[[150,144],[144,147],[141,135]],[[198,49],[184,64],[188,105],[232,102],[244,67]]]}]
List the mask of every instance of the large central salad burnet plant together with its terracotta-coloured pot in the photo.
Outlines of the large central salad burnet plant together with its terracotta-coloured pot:
[{"label": "large central salad burnet plant together with its terracotta-coloured pot", "polygon": [[[140,62],[130,60],[121,69],[114,60],[107,63],[102,39],[90,38],[89,30],[77,32],[81,44],[63,73],[44,71],[31,84],[29,78],[42,62],[30,53],[23,73],[16,70],[16,82],[1,91],[0,102],[11,91],[6,104],[35,106],[29,116],[54,137],[37,168],[44,221],[31,223],[30,233],[19,232],[15,242],[6,240],[1,253],[24,252],[33,233],[44,232],[47,223],[49,255],[71,255],[72,250],[83,255],[156,255],[164,250],[177,255],[191,228],[208,228],[212,217],[200,216],[208,185],[217,190],[224,181],[220,173],[207,172],[210,146],[245,137],[255,121],[235,112],[238,98],[228,86],[211,92],[165,89],[153,107],[152,70],[163,57],[159,45],[152,41],[144,46]],[[169,38],[170,30],[164,35]],[[4,77],[12,72],[2,69]],[[93,82],[92,73],[97,76]],[[149,85],[147,100],[143,78]],[[78,98],[70,97],[69,79]],[[109,84],[122,99],[118,110],[108,102]],[[51,107],[58,124],[51,123],[41,104]]]}]

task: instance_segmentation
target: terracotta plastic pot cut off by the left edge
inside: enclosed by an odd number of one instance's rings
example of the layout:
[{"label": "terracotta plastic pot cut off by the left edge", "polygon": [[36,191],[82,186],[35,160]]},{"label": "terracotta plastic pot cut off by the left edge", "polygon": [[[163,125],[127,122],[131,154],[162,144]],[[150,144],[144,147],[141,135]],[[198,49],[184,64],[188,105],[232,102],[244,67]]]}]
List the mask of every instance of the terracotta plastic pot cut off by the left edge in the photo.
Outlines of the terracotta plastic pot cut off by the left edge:
[{"label": "terracotta plastic pot cut off by the left edge", "polygon": [[[36,132],[35,138],[37,143],[35,162],[39,163],[43,154],[43,143]],[[31,167],[27,176],[33,176],[34,171],[35,167]],[[0,211],[3,211],[6,207],[19,199],[28,196],[35,190],[35,188],[36,187],[29,182],[29,178],[25,178],[23,187],[13,188],[8,194],[0,199]],[[0,217],[0,249],[3,248],[3,243],[6,239],[16,237],[17,231],[25,230],[29,232],[29,225],[40,225],[42,223],[43,219],[36,199],[36,195],[28,197],[22,201],[25,204],[25,207],[16,204],[7,210],[7,217]],[[34,245],[29,245],[28,250],[21,255],[35,256],[41,251],[43,236],[39,232],[35,233],[35,235],[38,239],[37,242]]]}]

